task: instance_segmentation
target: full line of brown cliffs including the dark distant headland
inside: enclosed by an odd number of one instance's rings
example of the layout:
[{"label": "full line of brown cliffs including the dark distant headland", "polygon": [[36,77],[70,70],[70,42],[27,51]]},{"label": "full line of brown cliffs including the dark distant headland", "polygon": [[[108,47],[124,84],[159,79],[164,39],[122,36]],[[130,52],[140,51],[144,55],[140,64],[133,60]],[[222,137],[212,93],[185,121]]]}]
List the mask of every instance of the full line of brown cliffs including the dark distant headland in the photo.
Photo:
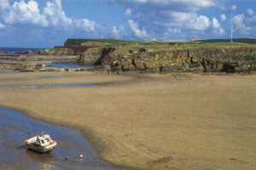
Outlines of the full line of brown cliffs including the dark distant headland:
[{"label": "full line of brown cliffs including the dark distant headland", "polygon": [[[105,40],[104,40],[105,41]],[[116,40],[115,40],[116,41]],[[136,45],[135,45],[136,44]],[[190,48],[173,48],[161,44],[115,46],[106,45],[103,40],[67,39],[64,47],[55,47],[26,54],[64,56],[73,55],[63,62],[80,65],[102,65],[107,71],[141,71],[141,72],[251,72],[256,71],[256,47],[225,46],[205,48],[195,44]],[[143,47],[143,48],[138,48]],[[148,47],[154,48],[154,50]],[[185,47],[185,46],[184,46]],[[201,48],[198,48],[201,47]],[[213,46],[216,47],[216,46]],[[5,54],[4,54],[5,55]],[[75,58],[75,56],[78,56]],[[65,57],[64,57],[65,58]],[[44,60],[44,57],[42,57]]]}]

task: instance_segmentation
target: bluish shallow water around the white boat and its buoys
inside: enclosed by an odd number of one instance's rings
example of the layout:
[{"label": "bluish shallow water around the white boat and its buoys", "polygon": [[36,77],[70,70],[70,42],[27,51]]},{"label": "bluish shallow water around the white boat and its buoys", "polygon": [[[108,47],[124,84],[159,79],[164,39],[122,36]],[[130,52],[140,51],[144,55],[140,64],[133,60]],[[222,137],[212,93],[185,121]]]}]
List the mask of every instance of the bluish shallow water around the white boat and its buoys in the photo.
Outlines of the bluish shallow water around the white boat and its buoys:
[{"label": "bluish shallow water around the white boat and its buoys", "polygon": [[[57,142],[50,154],[26,150],[25,139],[48,133]],[[79,159],[79,155],[83,159]],[[68,159],[65,159],[68,156]],[[30,119],[20,111],[0,107],[0,167],[14,169],[128,170],[102,161],[81,133],[67,127]]]}]

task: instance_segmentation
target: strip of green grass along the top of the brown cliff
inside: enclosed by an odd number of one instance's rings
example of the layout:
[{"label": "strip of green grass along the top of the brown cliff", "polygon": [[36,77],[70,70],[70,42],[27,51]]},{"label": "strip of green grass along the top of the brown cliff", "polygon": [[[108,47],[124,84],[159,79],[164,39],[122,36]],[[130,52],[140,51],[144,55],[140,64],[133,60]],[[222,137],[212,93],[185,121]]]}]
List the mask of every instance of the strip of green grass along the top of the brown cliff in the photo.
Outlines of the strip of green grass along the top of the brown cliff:
[{"label": "strip of green grass along the top of the brown cliff", "polygon": [[[145,48],[147,51],[159,52],[159,51],[172,51],[172,50],[186,50],[186,49],[201,49],[201,48],[254,48],[254,38],[241,38],[234,39],[234,42],[228,41],[229,39],[210,39],[210,40],[196,40],[196,41],[134,41],[134,40],[119,40],[119,39],[88,39],[88,42],[84,42],[83,46],[88,47],[113,47],[123,48],[124,50],[139,50]],[[243,42],[242,42],[243,41]],[[177,44],[177,45],[176,45]]]}]

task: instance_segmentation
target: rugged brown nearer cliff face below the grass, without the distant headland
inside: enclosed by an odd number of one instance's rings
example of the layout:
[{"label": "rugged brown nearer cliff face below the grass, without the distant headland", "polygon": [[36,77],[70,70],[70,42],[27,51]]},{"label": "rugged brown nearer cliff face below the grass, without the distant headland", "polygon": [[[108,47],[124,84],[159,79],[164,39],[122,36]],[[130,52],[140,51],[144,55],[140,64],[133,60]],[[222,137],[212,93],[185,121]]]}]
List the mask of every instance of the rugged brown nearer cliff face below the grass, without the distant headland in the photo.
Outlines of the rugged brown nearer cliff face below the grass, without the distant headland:
[{"label": "rugged brown nearer cliff face below the grass, without the distant headland", "polygon": [[[237,72],[255,71],[252,48],[190,49],[164,52],[124,51],[119,48],[91,48],[80,55],[80,61],[105,65],[109,71],[150,72]],[[249,56],[249,57],[248,57]],[[81,63],[82,64],[82,63]]]}]

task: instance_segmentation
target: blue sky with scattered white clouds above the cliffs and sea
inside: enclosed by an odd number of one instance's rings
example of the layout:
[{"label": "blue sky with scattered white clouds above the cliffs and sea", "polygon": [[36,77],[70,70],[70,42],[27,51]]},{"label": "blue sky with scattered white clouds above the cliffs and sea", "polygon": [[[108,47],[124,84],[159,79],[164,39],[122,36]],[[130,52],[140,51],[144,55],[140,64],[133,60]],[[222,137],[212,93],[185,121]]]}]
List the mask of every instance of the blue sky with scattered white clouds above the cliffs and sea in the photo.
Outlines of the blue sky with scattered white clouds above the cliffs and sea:
[{"label": "blue sky with scattered white clouds above the cliffs and sea", "polygon": [[254,0],[0,0],[0,47],[53,48],[67,38],[256,37]]}]

